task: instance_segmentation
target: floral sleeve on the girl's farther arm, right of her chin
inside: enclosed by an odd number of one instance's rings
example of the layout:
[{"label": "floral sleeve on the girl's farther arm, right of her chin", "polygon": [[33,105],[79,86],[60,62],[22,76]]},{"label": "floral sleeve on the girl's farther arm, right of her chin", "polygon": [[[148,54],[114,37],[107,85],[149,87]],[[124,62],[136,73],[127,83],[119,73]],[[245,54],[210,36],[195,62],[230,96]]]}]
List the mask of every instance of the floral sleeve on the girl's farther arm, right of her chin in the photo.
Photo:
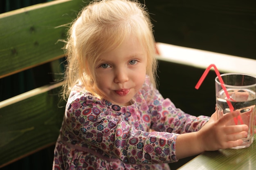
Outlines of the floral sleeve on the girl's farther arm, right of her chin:
[{"label": "floral sleeve on the girl's farther arm, right of her chin", "polygon": [[141,95],[146,98],[151,115],[151,128],[156,131],[177,134],[195,132],[209,120],[207,116],[195,117],[176,108],[173,102],[168,98],[164,99],[150,82],[143,86]]}]

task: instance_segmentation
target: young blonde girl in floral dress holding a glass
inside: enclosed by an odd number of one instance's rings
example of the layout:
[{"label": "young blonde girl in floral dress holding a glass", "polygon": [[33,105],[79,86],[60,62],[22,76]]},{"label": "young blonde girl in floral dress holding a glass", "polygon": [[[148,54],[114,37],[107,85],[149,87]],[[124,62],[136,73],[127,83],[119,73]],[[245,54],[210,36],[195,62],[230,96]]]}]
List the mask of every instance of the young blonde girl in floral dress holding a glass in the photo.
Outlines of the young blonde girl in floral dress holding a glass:
[{"label": "young blonde girl in floral dress holding a glass", "polygon": [[74,21],[54,170],[168,170],[178,159],[242,144],[248,127],[225,126],[238,112],[195,117],[157,91],[152,27],[135,0],[91,2]]}]

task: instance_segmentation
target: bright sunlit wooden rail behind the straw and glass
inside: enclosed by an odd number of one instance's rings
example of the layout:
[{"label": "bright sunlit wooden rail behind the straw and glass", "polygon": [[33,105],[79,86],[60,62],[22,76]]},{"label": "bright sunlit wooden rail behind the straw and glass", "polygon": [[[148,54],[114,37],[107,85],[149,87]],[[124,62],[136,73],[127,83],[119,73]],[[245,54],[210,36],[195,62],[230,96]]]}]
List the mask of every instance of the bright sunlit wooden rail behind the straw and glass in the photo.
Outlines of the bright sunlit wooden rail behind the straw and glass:
[{"label": "bright sunlit wooden rail behind the straw and glass", "polygon": [[215,64],[223,73],[246,73],[256,75],[256,60],[233,55],[215,53],[199,49],[157,42],[158,59],[185,64],[198,68],[207,68]]}]

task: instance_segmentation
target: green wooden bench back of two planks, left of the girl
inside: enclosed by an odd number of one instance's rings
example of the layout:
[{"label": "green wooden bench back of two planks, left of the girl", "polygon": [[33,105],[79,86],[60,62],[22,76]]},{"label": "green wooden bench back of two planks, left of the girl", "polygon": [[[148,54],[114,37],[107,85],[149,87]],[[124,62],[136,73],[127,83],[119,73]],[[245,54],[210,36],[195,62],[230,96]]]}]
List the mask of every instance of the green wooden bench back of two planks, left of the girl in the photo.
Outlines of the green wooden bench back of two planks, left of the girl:
[{"label": "green wooden bench back of two planks, left of the girl", "polygon": [[[59,40],[83,6],[56,0],[0,14],[0,79],[49,62],[56,73],[65,57]],[[61,82],[45,84],[0,102],[0,168],[55,144],[65,102]]]}]

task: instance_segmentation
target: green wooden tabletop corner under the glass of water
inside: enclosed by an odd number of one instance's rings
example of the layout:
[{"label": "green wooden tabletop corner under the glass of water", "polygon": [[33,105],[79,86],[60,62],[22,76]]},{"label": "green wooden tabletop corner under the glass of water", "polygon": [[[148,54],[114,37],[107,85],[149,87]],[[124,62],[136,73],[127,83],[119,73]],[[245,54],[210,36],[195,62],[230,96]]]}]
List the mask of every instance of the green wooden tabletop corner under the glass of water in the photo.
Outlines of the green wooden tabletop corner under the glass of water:
[{"label": "green wooden tabletop corner under the glass of water", "polygon": [[203,152],[178,170],[256,170],[256,135],[249,148]]}]

